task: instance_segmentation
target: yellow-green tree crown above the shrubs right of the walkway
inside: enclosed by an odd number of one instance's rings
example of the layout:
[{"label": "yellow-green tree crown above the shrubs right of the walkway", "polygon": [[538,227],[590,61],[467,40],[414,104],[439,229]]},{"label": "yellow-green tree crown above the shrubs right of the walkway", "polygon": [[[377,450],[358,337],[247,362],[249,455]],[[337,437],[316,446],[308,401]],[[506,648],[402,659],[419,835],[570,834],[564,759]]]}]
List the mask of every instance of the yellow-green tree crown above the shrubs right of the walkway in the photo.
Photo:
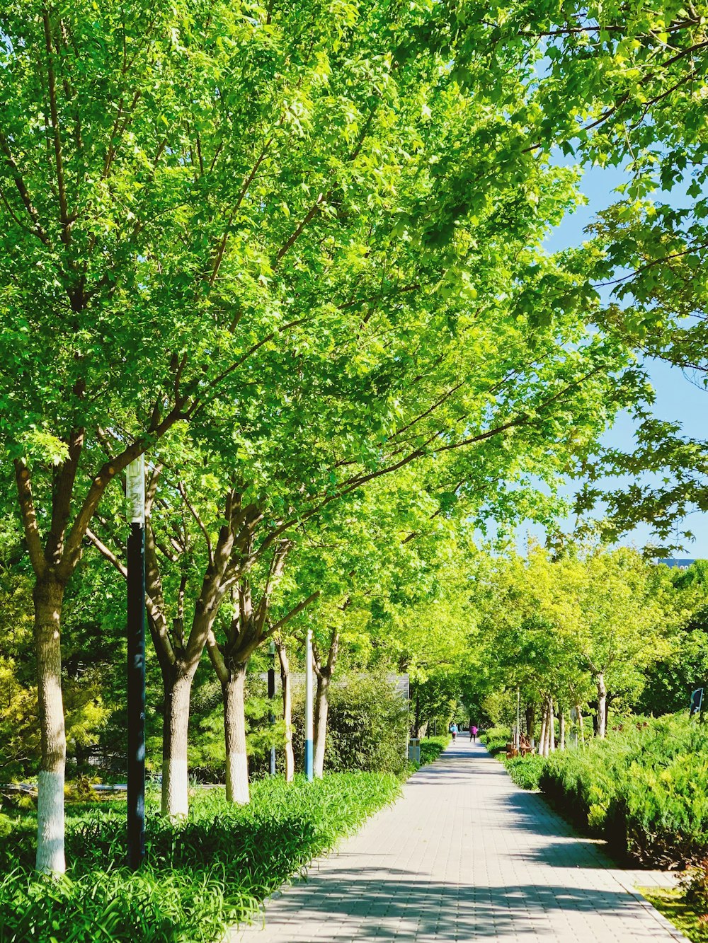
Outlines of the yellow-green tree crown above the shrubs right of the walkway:
[{"label": "yellow-green tree crown above the shrubs right of the walkway", "polygon": [[501,685],[531,701],[552,694],[566,709],[592,698],[598,675],[632,703],[643,670],[670,651],[676,618],[666,568],[627,549],[500,559],[480,581],[480,603]]}]

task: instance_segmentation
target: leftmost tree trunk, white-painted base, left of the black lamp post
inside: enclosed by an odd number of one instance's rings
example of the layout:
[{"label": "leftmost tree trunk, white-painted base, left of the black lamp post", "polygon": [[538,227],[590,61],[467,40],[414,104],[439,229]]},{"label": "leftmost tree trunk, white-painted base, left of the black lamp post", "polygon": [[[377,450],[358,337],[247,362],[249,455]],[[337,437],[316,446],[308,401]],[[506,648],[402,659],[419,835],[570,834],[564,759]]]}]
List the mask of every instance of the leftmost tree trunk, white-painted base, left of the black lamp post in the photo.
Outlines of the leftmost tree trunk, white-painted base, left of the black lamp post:
[{"label": "leftmost tree trunk, white-painted base, left of the black lamp post", "polygon": [[34,600],[34,637],[37,656],[42,760],[37,792],[37,870],[63,873],[64,770],[66,730],[61,697],[61,605],[64,587],[52,576],[37,581]]}]

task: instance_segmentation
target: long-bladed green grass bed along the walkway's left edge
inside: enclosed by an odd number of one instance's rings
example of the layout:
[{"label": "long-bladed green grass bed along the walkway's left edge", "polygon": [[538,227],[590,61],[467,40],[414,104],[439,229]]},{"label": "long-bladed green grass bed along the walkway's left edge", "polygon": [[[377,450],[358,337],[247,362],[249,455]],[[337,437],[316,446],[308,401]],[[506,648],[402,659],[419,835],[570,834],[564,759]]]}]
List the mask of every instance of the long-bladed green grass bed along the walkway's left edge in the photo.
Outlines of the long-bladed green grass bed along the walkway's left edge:
[{"label": "long-bladed green grass bed along the walkway's left edge", "polygon": [[336,773],[307,783],[263,780],[249,805],[222,790],[194,795],[190,816],[147,817],[146,863],[125,867],[125,809],[116,802],[67,808],[69,869],[38,876],[33,816],[10,819],[0,843],[0,943],[212,943],[312,858],[399,791],[395,776]]}]

